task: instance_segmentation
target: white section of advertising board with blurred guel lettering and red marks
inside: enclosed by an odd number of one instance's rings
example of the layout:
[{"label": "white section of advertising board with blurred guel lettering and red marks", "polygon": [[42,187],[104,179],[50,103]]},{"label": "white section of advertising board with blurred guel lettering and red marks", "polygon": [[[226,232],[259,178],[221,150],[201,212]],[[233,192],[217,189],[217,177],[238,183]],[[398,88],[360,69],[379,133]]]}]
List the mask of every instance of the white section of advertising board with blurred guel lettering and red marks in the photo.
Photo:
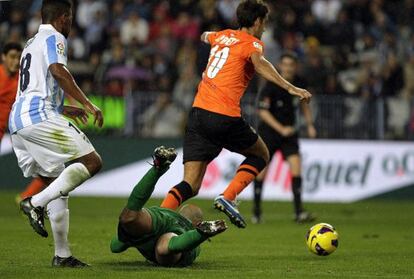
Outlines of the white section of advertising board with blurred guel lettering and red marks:
[{"label": "white section of advertising board with blurred guel lettering and red marks", "polygon": [[[414,143],[301,140],[301,150],[306,201],[353,202],[414,185]],[[183,173],[181,160],[179,149],[177,162],[161,178],[154,196],[164,197],[179,182]],[[242,160],[242,156],[223,150],[209,165],[198,197],[220,194]],[[98,174],[74,194],[127,196],[148,170],[150,161],[147,157]],[[291,199],[289,168],[279,153],[270,163],[263,195],[267,200]],[[239,198],[251,196],[252,189],[246,189]]]}]

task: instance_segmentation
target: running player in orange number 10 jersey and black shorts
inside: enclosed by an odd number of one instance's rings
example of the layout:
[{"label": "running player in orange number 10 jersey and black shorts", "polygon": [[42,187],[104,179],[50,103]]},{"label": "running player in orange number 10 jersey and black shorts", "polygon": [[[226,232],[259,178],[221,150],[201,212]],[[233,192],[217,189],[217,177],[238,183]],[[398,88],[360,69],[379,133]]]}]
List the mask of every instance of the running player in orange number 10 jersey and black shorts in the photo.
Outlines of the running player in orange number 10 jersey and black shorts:
[{"label": "running player in orange number 10 jersey and black shorts", "polygon": [[309,101],[311,97],[308,91],[281,77],[263,57],[264,44],[260,38],[268,12],[263,1],[242,1],[237,8],[238,30],[201,35],[201,40],[211,45],[211,51],[184,136],[184,179],[171,188],[161,207],[175,210],[197,195],[207,165],[226,148],[246,159],[223,194],[215,198],[214,207],[237,227],[246,227],[234,200],[266,167],[269,151],[241,117],[240,99],[255,71],[301,100]]}]

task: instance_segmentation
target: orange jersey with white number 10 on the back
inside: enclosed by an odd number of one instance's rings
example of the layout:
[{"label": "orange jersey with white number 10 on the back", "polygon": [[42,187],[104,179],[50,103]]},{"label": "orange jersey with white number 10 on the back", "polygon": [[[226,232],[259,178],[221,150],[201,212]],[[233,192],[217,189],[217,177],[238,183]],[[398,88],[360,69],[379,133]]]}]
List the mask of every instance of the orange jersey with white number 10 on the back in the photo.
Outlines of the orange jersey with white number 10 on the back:
[{"label": "orange jersey with white number 10 on the back", "polygon": [[240,99],[254,75],[250,60],[254,52],[263,53],[259,39],[240,30],[223,30],[208,35],[210,58],[198,85],[193,107],[240,117]]}]

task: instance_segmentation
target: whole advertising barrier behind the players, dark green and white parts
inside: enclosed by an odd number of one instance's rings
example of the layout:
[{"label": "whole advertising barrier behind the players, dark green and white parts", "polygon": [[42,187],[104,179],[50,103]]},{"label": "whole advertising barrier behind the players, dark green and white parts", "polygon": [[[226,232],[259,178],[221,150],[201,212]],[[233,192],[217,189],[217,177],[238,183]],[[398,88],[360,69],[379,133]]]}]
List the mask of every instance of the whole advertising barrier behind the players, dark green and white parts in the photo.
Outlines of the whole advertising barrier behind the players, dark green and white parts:
[{"label": "whole advertising barrier behind the players, dark green and white parts", "polygon": [[[127,196],[148,169],[151,152],[158,145],[180,147],[178,139],[91,137],[101,154],[100,174],[75,191],[77,195]],[[2,144],[5,147],[5,144]],[[3,149],[5,150],[5,149]],[[414,143],[350,140],[301,140],[304,199],[351,202],[386,193],[414,199]],[[182,150],[170,171],[160,180],[155,196],[163,197],[182,178]],[[225,151],[208,167],[200,197],[219,194],[233,177],[242,157]],[[19,190],[28,182],[8,149],[0,156],[0,189]],[[407,186],[407,187],[406,187]],[[413,187],[408,187],[413,186]],[[270,163],[264,198],[290,199],[290,173],[282,155]],[[411,191],[413,190],[413,191]],[[248,199],[252,189],[240,196]],[[395,195],[394,195],[395,196]]]}]

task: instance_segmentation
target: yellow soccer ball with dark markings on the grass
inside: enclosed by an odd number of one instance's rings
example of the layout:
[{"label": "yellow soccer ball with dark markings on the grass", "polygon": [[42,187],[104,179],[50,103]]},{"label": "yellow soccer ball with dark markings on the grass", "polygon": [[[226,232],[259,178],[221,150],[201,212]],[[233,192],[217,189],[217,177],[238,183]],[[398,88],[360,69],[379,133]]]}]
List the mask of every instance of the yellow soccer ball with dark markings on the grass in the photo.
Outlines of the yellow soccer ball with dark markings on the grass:
[{"label": "yellow soccer ball with dark markings on the grass", "polygon": [[319,223],[309,229],[306,244],[309,251],[318,256],[327,256],[338,248],[338,232],[326,223]]}]

